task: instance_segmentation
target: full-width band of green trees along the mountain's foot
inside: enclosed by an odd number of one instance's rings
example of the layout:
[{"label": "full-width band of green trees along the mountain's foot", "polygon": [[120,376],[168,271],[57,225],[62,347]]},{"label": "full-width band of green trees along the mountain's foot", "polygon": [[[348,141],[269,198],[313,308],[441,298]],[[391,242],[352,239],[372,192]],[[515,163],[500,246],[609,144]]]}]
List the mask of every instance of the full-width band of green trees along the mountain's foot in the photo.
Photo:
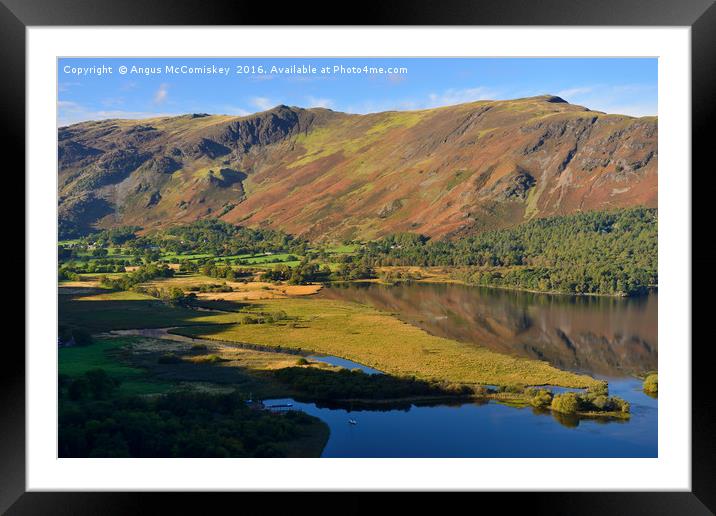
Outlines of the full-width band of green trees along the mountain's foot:
[{"label": "full-width band of green trees along the mountain's foot", "polygon": [[[333,257],[325,251],[309,250],[307,241],[280,231],[206,219],[148,236],[138,236],[137,228],[131,227],[93,234],[79,244],[92,259],[64,264],[60,279],[74,279],[82,272],[121,272],[130,263],[156,262],[162,253],[196,253],[212,257],[185,258],[182,271],[231,281],[247,276],[247,271],[215,262],[215,258],[284,252],[303,256],[301,263],[276,266],[265,273],[266,280],[294,284],[356,280],[376,277],[375,268],[380,266],[443,266],[453,269],[454,278],[470,284],[539,292],[636,295],[657,284],[657,226],[656,209],[587,212],[537,219],[455,240],[436,241],[400,233],[365,243],[357,254]],[[134,259],[109,259],[103,245],[121,246],[122,253]],[[60,248],[61,261],[76,255],[75,248]],[[325,265],[329,260],[339,262],[332,273]],[[382,276],[387,281],[411,279],[394,277],[396,274],[402,273],[384,272]]]}]

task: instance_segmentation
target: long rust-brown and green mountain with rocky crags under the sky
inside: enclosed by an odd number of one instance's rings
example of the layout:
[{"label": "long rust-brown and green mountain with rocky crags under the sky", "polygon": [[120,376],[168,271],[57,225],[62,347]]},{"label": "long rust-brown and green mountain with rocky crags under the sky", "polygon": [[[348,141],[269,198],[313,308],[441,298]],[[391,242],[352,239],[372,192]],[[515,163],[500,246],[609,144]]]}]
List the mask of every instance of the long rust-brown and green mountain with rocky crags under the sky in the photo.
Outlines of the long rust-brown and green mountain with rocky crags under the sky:
[{"label": "long rust-brown and green mountain with rocky crags under the sky", "polygon": [[657,205],[657,119],[551,95],[368,115],[277,106],[58,131],[62,237],[219,217],[310,239],[450,237]]}]

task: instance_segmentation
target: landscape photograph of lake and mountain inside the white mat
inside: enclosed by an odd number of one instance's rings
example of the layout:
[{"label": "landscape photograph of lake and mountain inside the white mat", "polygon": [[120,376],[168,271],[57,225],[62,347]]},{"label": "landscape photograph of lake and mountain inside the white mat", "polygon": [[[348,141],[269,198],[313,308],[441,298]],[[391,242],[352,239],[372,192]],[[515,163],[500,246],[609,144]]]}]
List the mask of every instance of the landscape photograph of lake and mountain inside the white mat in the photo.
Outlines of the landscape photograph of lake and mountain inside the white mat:
[{"label": "landscape photograph of lake and mountain inside the white mat", "polygon": [[658,68],[59,57],[58,456],[657,458]]}]

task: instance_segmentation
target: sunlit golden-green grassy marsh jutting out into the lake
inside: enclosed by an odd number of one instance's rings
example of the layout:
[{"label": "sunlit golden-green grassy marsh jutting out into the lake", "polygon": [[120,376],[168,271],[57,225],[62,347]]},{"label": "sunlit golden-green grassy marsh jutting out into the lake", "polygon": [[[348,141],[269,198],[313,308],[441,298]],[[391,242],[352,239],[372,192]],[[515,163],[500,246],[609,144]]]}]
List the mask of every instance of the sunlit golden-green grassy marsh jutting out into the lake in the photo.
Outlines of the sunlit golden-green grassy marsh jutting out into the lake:
[{"label": "sunlit golden-green grassy marsh jutting out into the lake", "polygon": [[589,376],[546,362],[512,357],[436,337],[389,314],[354,303],[318,298],[264,300],[257,311],[283,310],[299,324],[231,324],[182,328],[208,339],[312,350],[398,376],[464,384],[588,387]]}]

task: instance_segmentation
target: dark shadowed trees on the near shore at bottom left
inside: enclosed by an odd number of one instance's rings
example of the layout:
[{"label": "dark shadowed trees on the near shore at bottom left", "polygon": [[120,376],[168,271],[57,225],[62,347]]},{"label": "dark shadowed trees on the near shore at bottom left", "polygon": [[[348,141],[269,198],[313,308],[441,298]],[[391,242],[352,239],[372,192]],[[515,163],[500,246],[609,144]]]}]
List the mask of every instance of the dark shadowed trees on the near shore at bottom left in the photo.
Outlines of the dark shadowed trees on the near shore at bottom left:
[{"label": "dark shadowed trees on the near shore at bottom left", "polygon": [[315,431],[303,412],[252,410],[237,394],[119,396],[102,369],[59,379],[60,457],[285,457]]}]

